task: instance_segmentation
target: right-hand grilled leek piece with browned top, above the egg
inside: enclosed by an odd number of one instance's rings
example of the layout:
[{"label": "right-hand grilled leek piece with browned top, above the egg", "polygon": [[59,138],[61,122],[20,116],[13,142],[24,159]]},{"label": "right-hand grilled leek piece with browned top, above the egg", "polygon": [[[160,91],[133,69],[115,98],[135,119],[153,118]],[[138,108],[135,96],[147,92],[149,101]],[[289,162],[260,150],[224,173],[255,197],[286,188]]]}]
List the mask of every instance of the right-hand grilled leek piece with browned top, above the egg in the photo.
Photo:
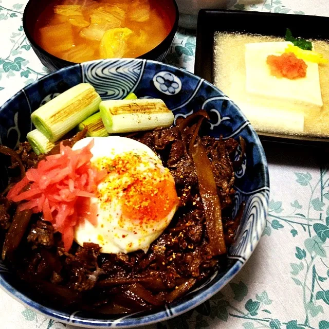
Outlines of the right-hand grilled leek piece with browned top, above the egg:
[{"label": "right-hand grilled leek piece with browned top, above the egg", "polygon": [[169,127],[174,122],[173,113],[160,99],[102,101],[99,109],[109,134]]}]

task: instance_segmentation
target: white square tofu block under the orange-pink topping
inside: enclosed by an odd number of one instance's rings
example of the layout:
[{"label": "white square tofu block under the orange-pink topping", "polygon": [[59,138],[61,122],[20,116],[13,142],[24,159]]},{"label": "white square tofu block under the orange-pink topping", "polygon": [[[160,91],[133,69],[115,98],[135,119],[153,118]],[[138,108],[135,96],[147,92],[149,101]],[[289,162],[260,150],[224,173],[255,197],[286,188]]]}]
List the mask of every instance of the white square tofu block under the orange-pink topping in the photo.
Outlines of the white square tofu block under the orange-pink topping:
[{"label": "white square tofu block under the orange-pink topping", "polygon": [[[322,96],[319,65],[305,61],[306,77],[289,80],[270,74],[267,56],[280,56],[290,42],[262,42],[245,45],[246,94],[250,102],[257,96],[259,106],[302,112],[319,111]],[[264,111],[266,111],[264,108]]]}]

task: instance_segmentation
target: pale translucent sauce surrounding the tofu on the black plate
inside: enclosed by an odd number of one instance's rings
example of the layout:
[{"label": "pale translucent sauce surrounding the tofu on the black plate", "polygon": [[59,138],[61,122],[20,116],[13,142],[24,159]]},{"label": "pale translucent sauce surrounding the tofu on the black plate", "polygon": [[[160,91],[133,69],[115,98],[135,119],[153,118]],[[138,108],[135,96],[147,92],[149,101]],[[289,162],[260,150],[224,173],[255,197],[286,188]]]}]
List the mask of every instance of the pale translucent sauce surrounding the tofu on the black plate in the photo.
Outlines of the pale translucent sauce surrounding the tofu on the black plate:
[{"label": "pale translucent sauce surrounding the tofu on the black plate", "polygon": [[[246,94],[245,45],[247,43],[284,41],[275,36],[256,34],[240,34],[217,32],[214,35],[214,85],[220,88],[239,106],[242,111]],[[329,59],[329,42],[325,40],[310,40],[314,50]],[[294,120],[294,112],[287,109],[281,118],[282,124],[276,122],[255,120],[253,124],[258,132],[272,134],[288,134],[295,136],[328,137],[329,136],[329,64],[319,65],[320,87],[323,107],[320,111],[312,108],[304,112],[303,130],[295,129],[294,125],[285,125],[286,120]],[[270,99],[268,100],[270,102]],[[265,111],[265,109],[264,109]],[[276,111],[272,108],[271,111]],[[281,113],[280,113],[281,114]],[[247,116],[248,117],[248,116]],[[296,116],[295,116],[296,117]]]}]

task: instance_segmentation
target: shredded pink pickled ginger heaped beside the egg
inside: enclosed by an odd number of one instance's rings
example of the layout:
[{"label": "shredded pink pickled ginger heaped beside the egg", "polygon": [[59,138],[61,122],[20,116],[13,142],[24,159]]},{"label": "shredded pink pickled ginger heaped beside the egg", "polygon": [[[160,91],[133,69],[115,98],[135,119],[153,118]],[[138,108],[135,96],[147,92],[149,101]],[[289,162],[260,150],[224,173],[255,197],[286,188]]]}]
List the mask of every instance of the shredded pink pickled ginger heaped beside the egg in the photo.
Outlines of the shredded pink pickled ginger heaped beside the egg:
[{"label": "shredded pink pickled ginger heaped beside the egg", "polygon": [[74,239],[74,227],[87,219],[97,224],[97,206],[90,203],[99,182],[106,172],[91,166],[94,142],[73,151],[60,145],[60,154],[46,156],[37,168],[29,169],[26,176],[14,185],[7,198],[20,203],[18,209],[42,212],[45,221],[62,233],[65,250]]}]

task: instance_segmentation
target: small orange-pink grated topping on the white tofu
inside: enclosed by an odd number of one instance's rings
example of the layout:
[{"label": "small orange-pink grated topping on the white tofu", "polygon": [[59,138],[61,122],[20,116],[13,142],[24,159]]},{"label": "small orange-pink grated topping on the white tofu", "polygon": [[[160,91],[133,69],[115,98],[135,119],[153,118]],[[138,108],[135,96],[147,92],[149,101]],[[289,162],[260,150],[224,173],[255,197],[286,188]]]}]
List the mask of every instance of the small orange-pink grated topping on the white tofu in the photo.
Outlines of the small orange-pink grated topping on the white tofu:
[{"label": "small orange-pink grated topping on the white tofu", "polygon": [[306,77],[307,65],[293,52],[284,52],[281,56],[269,55],[266,59],[271,75],[277,78],[295,80]]}]

